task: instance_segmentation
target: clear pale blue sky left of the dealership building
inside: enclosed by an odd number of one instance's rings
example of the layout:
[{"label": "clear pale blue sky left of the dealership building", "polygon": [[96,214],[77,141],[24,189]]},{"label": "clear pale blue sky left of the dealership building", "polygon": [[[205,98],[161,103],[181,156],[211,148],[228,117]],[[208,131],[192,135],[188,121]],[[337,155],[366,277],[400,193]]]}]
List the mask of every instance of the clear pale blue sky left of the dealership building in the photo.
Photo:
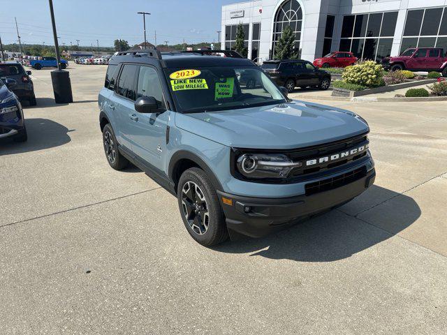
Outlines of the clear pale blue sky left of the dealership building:
[{"label": "clear pale blue sky left of the dealership building", "polygon": [[[113,46],[118,38],[130,45],[147,40],[173,45],[217,41],[221,6],[237,0],[53,0],[59,45]],[[22,43],[54,45],[48,0],[0,0],[0,37],[3,44],[17,43],[15,20]]]}]

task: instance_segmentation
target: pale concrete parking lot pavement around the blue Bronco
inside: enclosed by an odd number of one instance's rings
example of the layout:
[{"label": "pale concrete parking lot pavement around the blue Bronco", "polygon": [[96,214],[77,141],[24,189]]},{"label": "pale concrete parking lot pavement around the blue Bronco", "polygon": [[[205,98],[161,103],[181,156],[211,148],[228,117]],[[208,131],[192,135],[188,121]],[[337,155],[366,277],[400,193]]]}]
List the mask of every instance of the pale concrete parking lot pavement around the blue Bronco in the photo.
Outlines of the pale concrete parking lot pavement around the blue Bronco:
[{"label": "pale concrete parking lot pavement around the blue Bronco", "polygon": [[34,70],[29,141],[0,142],[0,334],[446,334],[446,103],[328,102],[369,121],[376,185],[209,249],[172,195],[108,167],[105,67],[69,70],[76,103]]}]

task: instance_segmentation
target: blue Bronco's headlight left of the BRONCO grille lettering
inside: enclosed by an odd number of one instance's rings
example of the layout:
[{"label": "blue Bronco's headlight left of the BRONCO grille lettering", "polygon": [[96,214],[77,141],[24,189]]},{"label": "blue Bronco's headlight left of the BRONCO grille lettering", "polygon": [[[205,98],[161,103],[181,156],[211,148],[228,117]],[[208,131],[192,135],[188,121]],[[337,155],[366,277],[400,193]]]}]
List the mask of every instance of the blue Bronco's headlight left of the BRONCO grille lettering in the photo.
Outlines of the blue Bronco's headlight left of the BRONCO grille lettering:
[{"label": "blue Bronco's headlight left of the BRONCO grille lettering", "polygon": [[249,179],[287,178],[301,162],[294,163],[283,154],[243,154],[237,158],[237,170]]}]

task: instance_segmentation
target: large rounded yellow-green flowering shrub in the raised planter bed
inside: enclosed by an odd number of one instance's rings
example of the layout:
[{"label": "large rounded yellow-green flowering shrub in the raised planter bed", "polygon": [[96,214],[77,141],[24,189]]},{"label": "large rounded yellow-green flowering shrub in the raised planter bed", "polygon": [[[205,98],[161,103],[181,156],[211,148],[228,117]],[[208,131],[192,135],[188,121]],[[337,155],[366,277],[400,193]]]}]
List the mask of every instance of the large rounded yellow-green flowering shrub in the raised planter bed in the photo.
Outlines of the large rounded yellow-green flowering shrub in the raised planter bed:
[{"label": "large rounded yellow-green flowering shrub in the raised planter bed", "polygon": [[349,84],[378,87],[382,83],[383,68],[381,65],[376,64],[375,61],[365,61],[345,68],[342,78]]}]

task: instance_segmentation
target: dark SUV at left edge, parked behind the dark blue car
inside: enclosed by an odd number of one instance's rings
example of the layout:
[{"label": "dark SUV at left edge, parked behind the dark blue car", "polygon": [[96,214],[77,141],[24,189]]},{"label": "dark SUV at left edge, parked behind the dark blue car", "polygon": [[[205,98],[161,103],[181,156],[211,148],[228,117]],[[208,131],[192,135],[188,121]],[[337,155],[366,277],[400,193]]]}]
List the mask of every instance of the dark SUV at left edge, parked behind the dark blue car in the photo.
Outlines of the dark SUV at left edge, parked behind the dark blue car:
[{"label": "dark SUV at left edge, parked behind the dark blue car", "polygon": [[13,61],[0,63],[0,78],[5,81],[6,78],[15,80],[10,84],[9,89],[20,99],[20,101],[29,101],[29,105],[37,105],[36,95],[34,94],[34,84],[29,77],[31,71],[25,71],[22,64]]}]

